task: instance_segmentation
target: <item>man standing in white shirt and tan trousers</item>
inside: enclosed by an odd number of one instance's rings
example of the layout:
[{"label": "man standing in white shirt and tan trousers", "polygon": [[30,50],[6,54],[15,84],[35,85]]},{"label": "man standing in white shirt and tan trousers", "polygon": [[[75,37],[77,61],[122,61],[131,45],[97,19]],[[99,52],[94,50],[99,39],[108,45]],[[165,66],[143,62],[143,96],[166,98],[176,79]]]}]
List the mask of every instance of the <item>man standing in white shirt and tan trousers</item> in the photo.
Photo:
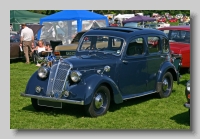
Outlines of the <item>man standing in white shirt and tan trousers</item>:
[{"label": "man standing in white shirt and tan trousers", "polygon": [[26,26],[26,24],[21,24],[21,38],[20,46],[23,46],[24,55],[26,58],[26,64],[30,63],[29,55],[32,54],[32,46],[34,45],[34,34],[33,30]]}]

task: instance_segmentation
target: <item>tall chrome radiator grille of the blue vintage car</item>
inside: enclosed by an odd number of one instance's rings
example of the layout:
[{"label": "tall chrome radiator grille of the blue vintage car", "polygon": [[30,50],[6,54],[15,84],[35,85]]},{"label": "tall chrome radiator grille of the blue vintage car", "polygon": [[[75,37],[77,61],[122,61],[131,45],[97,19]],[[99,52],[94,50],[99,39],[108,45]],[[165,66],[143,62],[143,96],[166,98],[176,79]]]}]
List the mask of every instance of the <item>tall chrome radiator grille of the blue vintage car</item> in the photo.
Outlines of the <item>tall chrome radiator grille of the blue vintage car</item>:
[{"label": "tall chrome radiator grille of the blue vintage car", "polygon": [[70,65],[67,63],[58,63],[58,65],[52,66],[46,92],[48,96],[52,94],[56,98],[61,96],[69,70]]}]

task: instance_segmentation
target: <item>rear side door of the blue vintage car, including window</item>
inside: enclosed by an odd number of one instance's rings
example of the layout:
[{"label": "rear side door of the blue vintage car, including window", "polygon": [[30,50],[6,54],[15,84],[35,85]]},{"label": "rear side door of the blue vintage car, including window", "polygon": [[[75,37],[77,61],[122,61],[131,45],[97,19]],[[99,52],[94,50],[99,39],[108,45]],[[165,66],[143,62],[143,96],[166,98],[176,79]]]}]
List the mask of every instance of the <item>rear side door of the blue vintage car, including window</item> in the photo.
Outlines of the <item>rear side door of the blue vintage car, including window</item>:
[{"label": "rear side door of the blue vintage car, including window", "polygon": [[166,56],[163,55],[161,50],[161,38],[158,35],[147,35],[147,91],[154,91],[156,89],[157,75],[162,63],[165,61]]}]

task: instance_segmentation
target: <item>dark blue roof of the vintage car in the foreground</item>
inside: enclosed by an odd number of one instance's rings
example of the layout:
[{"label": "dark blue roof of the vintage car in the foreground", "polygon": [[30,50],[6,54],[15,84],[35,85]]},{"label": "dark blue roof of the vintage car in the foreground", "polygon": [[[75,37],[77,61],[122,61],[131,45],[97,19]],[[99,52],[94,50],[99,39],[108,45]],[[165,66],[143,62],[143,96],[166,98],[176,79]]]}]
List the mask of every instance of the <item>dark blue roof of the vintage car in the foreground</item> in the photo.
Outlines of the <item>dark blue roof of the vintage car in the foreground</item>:
[{"label": "dark blue roof of the vintage car in the foreground", "polygon": [[109,35],[127,39],[134,35],[136,36],[145,34],[158,34],[166,36],[166,34],[160,30],[149,29],[149,28],[131,28],[131,27],[101,27],[90,30],[86,32],[84,35]]}]

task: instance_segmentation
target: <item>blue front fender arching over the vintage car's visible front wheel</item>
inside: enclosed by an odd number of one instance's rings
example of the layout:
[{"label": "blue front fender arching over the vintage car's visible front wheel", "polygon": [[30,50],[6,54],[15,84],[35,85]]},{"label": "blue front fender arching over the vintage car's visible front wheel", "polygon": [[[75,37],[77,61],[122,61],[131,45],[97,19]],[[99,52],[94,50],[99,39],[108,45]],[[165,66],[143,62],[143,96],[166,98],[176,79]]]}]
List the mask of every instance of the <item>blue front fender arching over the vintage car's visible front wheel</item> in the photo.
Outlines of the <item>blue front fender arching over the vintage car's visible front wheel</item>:
[{"label": "blue front fender arching over the vintage car's visible front wheel", "polygon": [[[118,88],[118,86],[116,85],[116,83],[109,78],[106,75],[99,75],[99,74],[94,74],[92,76],[87,77],[86,79],[84,79],[84,84],[85,84],[85,104],[89,104],[92,101],[93,98],[93,94],[96,91],[96,89],[104,84],[106,86],[108,86],[108,88],[110,88],[111,92],[113,94],[113,99],[115,101],[115,103],[122,103],[123,99],[120,93],[120,90]],[[111,94],[111,96],[112,96]]]}]

